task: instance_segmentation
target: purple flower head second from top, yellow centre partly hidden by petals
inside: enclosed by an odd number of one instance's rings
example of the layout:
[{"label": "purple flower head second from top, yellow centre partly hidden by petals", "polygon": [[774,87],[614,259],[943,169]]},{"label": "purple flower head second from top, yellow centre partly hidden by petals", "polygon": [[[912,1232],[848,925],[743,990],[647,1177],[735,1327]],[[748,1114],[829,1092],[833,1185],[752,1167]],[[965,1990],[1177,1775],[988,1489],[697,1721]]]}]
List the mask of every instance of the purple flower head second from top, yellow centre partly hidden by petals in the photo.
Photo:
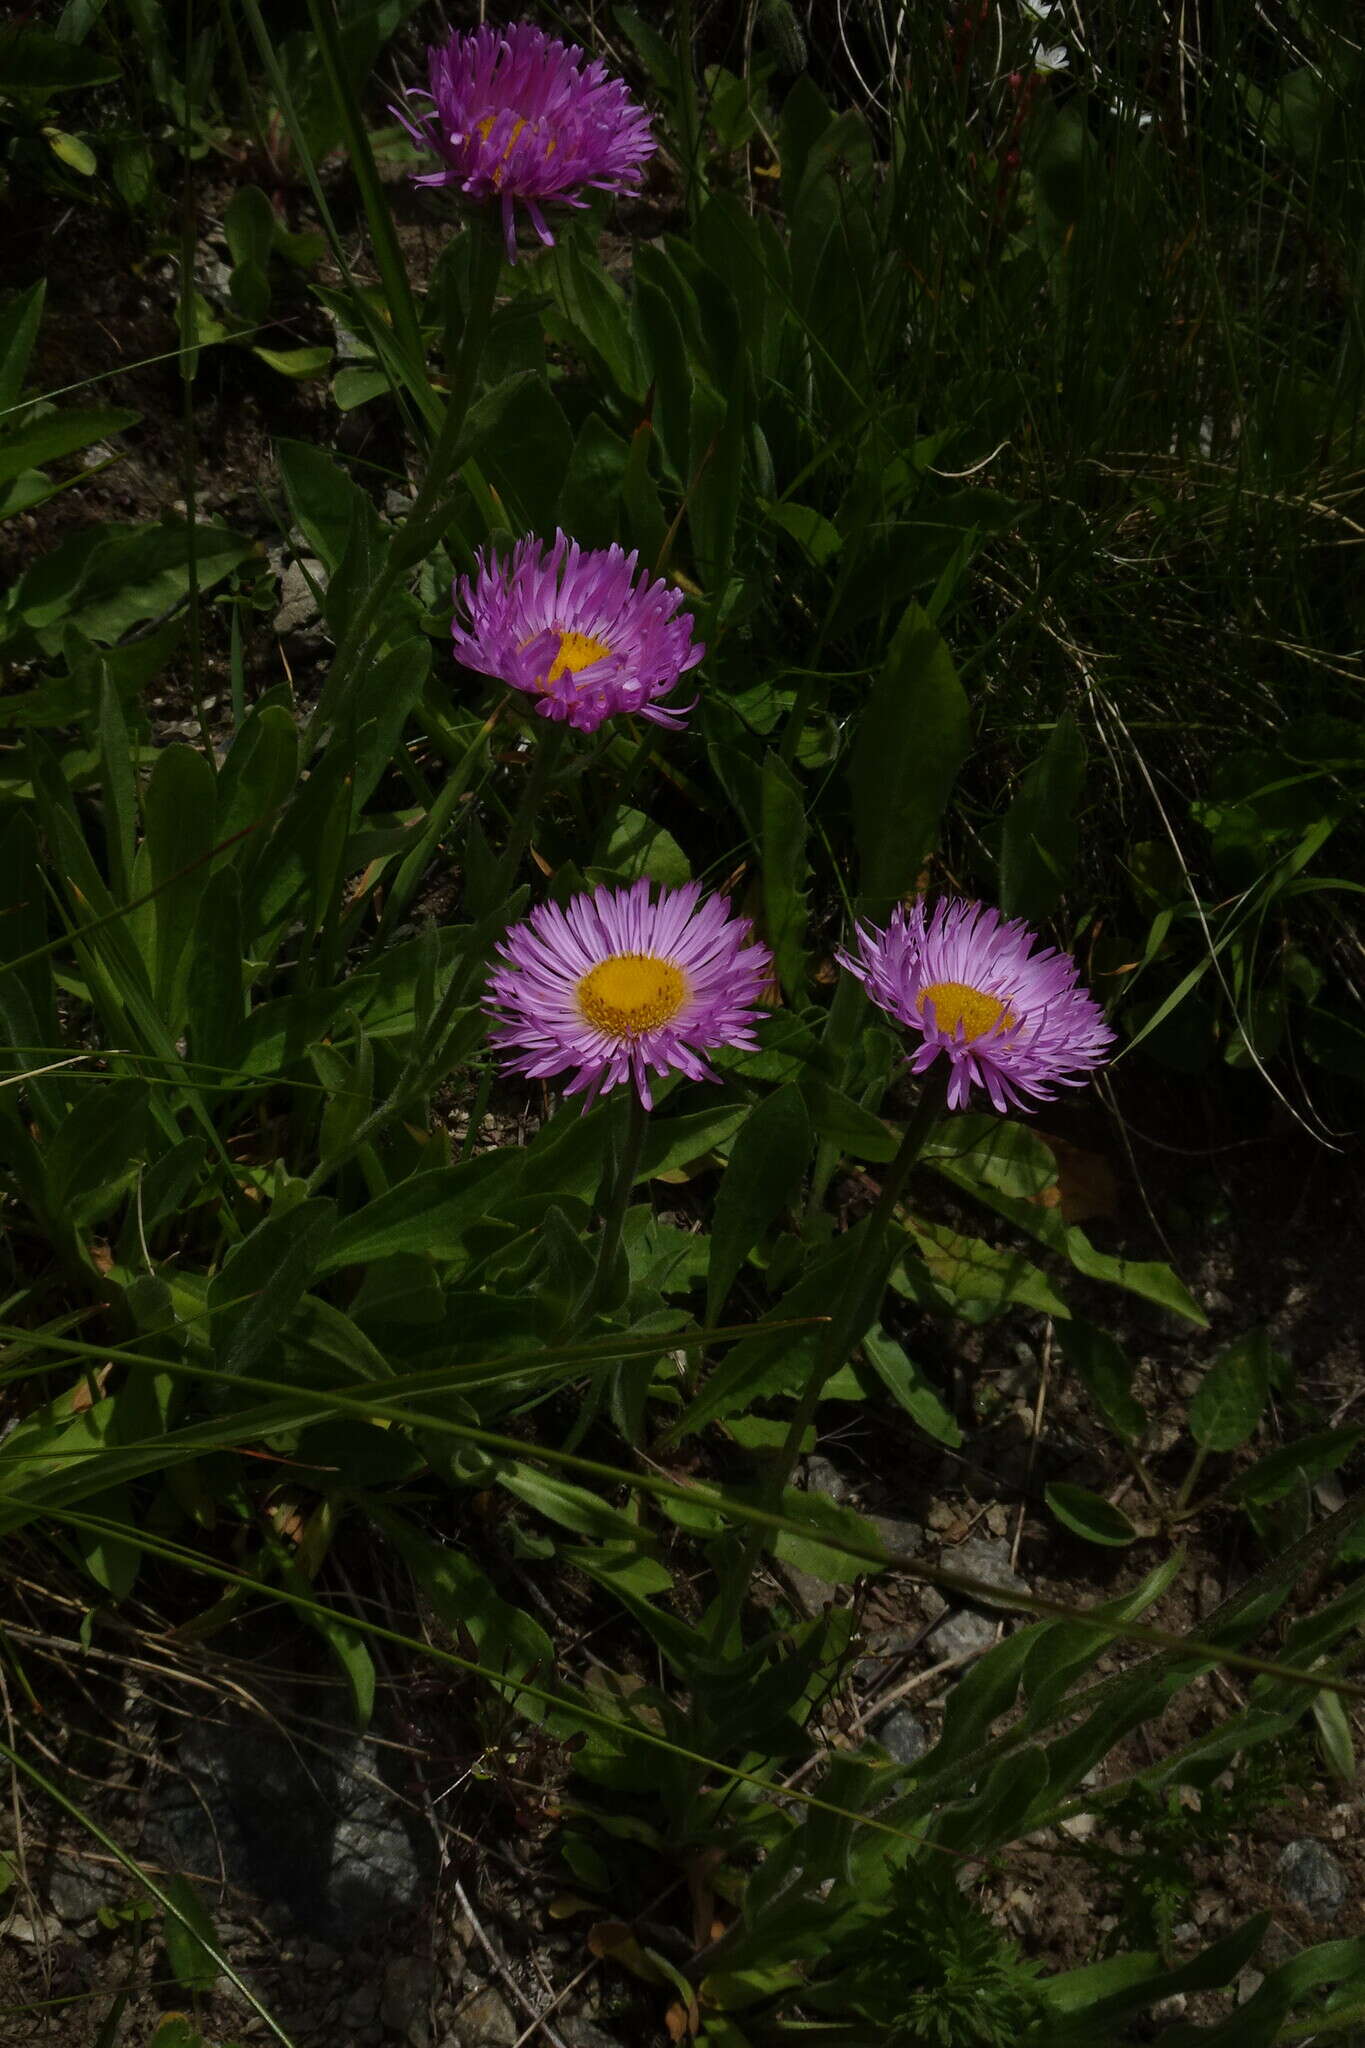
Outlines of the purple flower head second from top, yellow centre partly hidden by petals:
[{"label": "purple flower head second from top, yellow centre partly hidden by petals", "polygon": [[565,719],[581,733],[618,711],[681,725],[692,705],[659,698],[706,649],[692,639],[681,592],[647,575],[636,582],[636,559],[618,547],[583,551],[563,532],[551,549],[518,541],[505,561],[479,555],[479,573],[454,586],[456,655],[536,696],[542,719]]}]

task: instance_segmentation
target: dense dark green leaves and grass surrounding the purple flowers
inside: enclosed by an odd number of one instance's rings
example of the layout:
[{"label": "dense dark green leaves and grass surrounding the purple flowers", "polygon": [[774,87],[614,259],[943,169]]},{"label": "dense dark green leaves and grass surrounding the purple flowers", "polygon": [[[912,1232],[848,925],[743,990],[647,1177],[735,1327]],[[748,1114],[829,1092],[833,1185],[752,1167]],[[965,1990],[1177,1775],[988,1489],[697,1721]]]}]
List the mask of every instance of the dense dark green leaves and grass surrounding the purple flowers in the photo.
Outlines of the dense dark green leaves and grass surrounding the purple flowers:
[{"label": "dense dark green leaves and grass surrounding the purple flowers", "polygon": [[[0,1532],[80,1575],[90,1628],[133,1587],[213,1628],[276,1602],[358,1729],[424,1665],[479,1782],[551,1745],[604,1917],[714,1878],[692,1976],[690,1933],[641,1923],[630,1960],[716,2048],[1126,2038],[1257,1954],[1250,1921],[1177,1958],[1197,1853],[1314,1741],[1355,1769],[1365,1509],[1322,1483],[1363,1432],[1263,1309],[1205,1339],[1185,1233],[1173,1266],[1134,1200],[1072,1221],[1060,1106],[974,1102],[874,1210],[925,1098],[835,954],[855,915],[978,895],[1076,954],[1121,1108],[1166,1069],[1228,1116],[1359,1120],[1359,53],[1306,8],[1244,47],[1214,4],[1189,66],[1154,10],[1091,10],[1050,76],[1025,10],[898,10],[892,66],[888,10],[806,39],[763,0],[718,47],[724,10],[618,8],[665,141],[622,240],[561,209],[508,268],[467,225],[417,287],[409,12],[0,31],[10,197],[108,209],[151,262],[188,195],[158,430],[338,360],[252,479],[317,604],[297,682],[264,526],[82,518],[76,459],[139,416],[39,389],[43,283],[0,305],[0,516],[39,514],[0,596]],[[211,223],[213,297],[209,154],[270,162]],[[452,575],[557,524],[686,594],[686,729],[557,748],[452,664]],[[639,877],[731,893],[776,961],[757,1051],[661,1081],[647,1126],[499,1081],[481,1008],[530,903]],[[927,1751],[831,1743],[857,1595],[800,1604],[888,1550],[792,1456],[851,1411],[915,1487],[988,1466],[964,1358],[1044,1325],[1085,1464],[1044,1442],[1011,1487],[1113,1583],[1033,1618],[954,1591],[1003,1632]],[[1197,1378],[1148,1370],[1175,1329]],[[1248,1577],[1191,1634],[1166,1595],[1205,1511]],[[1205,1688],[1173,1737],[1220,1659],[1244,1702]],[[1083,1810],[1121,1923],[1046,1974],[960,1864]],[[207,1995],[213,1927],[174,1903]],[[1363,1978],[1359,1944],[1306,1950],[1199,2038],[1269,2048]]]}]

